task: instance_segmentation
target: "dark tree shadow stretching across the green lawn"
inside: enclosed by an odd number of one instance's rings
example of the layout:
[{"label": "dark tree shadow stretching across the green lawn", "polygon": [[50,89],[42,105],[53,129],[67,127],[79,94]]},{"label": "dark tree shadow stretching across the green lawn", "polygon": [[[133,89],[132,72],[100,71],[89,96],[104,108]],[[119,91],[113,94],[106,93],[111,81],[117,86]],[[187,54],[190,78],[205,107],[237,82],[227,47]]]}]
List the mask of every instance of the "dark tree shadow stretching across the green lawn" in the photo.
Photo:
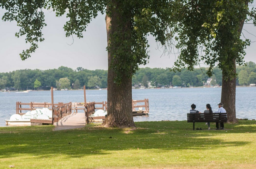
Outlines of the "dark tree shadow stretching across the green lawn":
[{"label": "dark tree shadow stretching across the green lawn", "polygon": [[[184,121],[138,122],[135,130],[101,128],[88,125],[81,129],[52,131],[52,126],[29,126],[0,130],[0,158],[24,155],[56,157],[65,155],[78,158],[91,155],[106,155],[119,150],[198,150],[201,148],[241,147],[250,141],[224,141],[227,134],[245,133],[247,125],[239,129],[225,131],[188,130]],[[234,127],[241,124],[232,124]],[[244,128],[245,125],[245,129]],[[127,132],[128,131],[128,132]],[[255,131],[253,132],[255,133]],[[223,147],[223,146],[222,146]]]}]

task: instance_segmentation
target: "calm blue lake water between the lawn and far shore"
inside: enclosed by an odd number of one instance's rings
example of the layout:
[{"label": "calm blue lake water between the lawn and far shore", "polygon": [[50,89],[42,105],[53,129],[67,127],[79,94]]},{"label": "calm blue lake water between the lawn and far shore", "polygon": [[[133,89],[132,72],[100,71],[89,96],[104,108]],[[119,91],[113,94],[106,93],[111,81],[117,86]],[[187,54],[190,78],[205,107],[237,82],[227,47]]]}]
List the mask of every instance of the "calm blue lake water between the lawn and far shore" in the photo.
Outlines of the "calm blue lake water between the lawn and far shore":
[{"label": "calm blue lake water between the lawn and far shore", "polygon": [[[180,89],[133,89],[134,100],[148,98],[150,114],[135,116],[134,121],[186,120],[192,103],[203,112],[206,104],[213,111],[218,110],[221,88],[180,88]],[[236,89],[237,118],[256,119],[256,87],[238,87]],[[107,101],[107,90],[87,90],[87,102]],[[15,114],[16,102],[49,102],[51,91],[0,92],[0,126],[5,119]],[[83,90],[54,91],[54,103],[84,102]]]}]

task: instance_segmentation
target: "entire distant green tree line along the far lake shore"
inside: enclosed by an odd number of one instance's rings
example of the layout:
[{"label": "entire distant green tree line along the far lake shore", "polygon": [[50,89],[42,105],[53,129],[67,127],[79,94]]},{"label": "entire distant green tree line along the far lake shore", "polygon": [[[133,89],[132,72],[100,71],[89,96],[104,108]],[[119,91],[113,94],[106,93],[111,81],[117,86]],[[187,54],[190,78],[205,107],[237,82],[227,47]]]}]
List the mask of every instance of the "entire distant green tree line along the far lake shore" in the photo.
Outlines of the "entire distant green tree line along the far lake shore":
[{"label": "entire distant green tree line along the far lake shore", "polygon": [[[132,79],[132,85],[143,85],[148,87],[169,87],[169,86],[203,86],[209,76],[206,75],[207,68],[196,68],[195,71],[182,69],[181,72],[170,72],[169,68],[140,68]],[[216,66],[211,76],[211,85],[222,84],[222,72]],[[27,90],[43,89],[48,90],[51,86],[57,89],[79,89],[85,85],[89,89],[107,87],[106,70],[88,70],[78,67],[73,70],[61,66],[58,69],[48,70],[16,70],[9,73],[0,73],[0,89]],[[237,66],[237,85],[249,85],[256,83],[256,65],[248,62],[247,66]]]}]

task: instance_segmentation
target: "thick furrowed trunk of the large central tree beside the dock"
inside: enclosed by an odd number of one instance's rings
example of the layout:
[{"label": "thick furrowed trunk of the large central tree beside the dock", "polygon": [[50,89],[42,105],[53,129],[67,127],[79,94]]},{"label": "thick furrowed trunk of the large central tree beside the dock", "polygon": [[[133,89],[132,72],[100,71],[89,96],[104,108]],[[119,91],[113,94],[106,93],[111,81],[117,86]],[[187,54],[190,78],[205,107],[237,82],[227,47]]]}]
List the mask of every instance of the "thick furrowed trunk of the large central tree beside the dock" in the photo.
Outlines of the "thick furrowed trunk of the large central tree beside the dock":
[{"label": "thick furrowed trunk of the large central tree beside the dock", "polygon": [[[111,10],[111,18],[108,14],[106,15],[105,20],[108,45],[110,44],[111,35],[113,35],[116,30],[120,30],[120,26],[123,31],[131,29],[131,22],[127,22],[124,25],[120,24],[122,23],[122,19],[129,20],[129,18],[121,17],[118,11],[118,5],[114,10]],[[120,37],[122,40],[129,40],[129,38],[131,37]],[[135,127],[132,117],[131,76],[123,74],[121,77],[121,83],[118,84],[114,82],[116,73],[111,64],[122,64],[122,62],[119,59],[113,60],[114,56],[111,51],[114,51],[119,45],[120,44],[117,44],[114,40],[111,40],[111,50],[108,50],[108,115],[102,123],[102,126],[119,128]]]}]

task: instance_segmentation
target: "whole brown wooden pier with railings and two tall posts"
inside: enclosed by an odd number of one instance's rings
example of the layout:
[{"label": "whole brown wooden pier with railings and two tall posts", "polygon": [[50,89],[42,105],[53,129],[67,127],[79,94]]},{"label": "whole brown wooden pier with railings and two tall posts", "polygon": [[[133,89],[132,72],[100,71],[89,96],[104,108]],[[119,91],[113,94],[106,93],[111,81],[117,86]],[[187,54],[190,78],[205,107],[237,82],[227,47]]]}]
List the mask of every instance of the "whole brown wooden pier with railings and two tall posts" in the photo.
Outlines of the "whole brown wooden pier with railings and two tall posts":
[{"label": "whole brown wooden pier with railings and two tall posts", "polygon": [[[52,111],[52,118],[50,119],[30,119],[30,124],[53,124],[54,130],[67,130],[82,128],[89,122],[94,120],[105,119],[105,116],[92,117],[95,110],[107,111],[107,102],[86,102],[86,90],[84,88],[84,102],[74,103],[56,103],[53,102],[53,88],[51,87],[51,103],[21,103],[16,102],[16,114],[24,115],[24,110],[36,110],[37,108],[48,108]],[[97,105],[97,106],[95,106]],[[73,113],[72,113],[73,110]],[[83,113],[78,113],[78,110],[83,110]],[[23,111],[23,112],[22,112]],[[147,115],[149,113],[148,99],[132,100],[133,116]]]}]

